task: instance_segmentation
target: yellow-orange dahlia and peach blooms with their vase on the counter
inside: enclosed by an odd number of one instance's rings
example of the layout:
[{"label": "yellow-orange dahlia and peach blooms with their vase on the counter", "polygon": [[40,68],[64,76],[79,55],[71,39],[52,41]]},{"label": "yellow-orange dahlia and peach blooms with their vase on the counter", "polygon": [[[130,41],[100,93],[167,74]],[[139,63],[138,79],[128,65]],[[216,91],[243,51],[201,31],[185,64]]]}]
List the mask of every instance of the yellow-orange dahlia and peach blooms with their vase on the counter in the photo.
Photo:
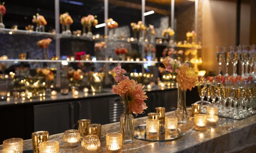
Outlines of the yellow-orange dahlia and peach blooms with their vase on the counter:
[{"label": "yellow-orange dahlia and peach blooms with their vase on the counter", "polygon": [[174,116],[178,118],[178,123],[187,123],[189,115],[186,109],[186,91],[195,87],[198,76],[190,66],[190,62],[181,63],[167,56],[163,59],[165,70],[176,77],[178,84],[178,108]]}]

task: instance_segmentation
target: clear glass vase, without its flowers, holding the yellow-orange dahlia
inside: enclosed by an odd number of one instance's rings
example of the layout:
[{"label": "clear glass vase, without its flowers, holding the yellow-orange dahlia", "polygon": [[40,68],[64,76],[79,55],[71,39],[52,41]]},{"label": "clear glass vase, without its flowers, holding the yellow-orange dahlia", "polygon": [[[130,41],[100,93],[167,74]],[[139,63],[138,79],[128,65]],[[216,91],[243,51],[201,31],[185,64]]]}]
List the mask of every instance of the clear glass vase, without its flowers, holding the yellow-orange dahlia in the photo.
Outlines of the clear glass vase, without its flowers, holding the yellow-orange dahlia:
[{"label": "clear glass vase, without its flowers, holding the yellow-orange dahlia", "polygon": [[174,111],[174,116],[178,118],[178,123],[187,123],[189,115],[186,108],[186,91],[178,85],[178,107]]}]

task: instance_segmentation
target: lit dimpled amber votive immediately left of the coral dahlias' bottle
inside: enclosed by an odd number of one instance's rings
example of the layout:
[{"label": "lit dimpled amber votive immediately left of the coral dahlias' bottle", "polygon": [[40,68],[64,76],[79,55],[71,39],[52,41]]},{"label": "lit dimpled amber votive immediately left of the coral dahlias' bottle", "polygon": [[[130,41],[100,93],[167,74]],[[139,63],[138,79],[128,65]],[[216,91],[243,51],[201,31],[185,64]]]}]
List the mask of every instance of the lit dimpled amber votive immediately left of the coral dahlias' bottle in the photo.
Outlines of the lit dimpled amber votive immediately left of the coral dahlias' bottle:
[{"label": "lit dimpled amber votive immediately left of the coral dahlias' bottle", "polygon": [[108,150],[122,149],[123,135],[121,133],[108,133],[106,135],[106,148]]}]

